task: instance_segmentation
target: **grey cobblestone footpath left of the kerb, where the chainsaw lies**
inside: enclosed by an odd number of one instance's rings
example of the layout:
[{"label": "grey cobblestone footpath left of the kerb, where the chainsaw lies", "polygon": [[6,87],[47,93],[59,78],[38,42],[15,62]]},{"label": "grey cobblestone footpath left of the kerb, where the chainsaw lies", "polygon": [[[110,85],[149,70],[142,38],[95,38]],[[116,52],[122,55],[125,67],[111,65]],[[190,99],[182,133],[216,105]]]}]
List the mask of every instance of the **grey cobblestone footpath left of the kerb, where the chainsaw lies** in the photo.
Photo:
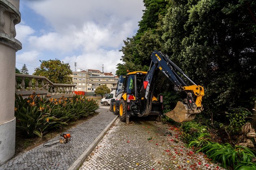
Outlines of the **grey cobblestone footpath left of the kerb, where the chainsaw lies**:
[{"label": "grey cobblestone footpath left of the kerb, where the chainsaw lies", "polygon": [[[102,113],[67,130],[65,133],[70,133],[73,137],[68,143],[57,143],[48,147],[43,147],[41,144],[30,151],[18,154],[0,166],[0,170],[68,169],[115,118],[115,115],[110,113],[108,108],[100,107],[97,112]],[[51,140],[59,138],[60,136],[56,136]]]}]

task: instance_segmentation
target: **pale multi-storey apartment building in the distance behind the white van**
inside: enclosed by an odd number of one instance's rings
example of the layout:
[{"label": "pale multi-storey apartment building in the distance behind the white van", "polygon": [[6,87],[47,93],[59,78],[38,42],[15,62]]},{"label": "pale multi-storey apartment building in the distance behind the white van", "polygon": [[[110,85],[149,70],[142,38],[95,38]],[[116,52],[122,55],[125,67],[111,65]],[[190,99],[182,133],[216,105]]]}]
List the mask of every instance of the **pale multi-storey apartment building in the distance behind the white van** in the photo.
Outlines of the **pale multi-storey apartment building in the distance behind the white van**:
[{"label": "pale multi-storey apartment building in the distance behind the white van", "polygon": [[106,85],[110,91],[117,87],[118,77],[112,72],[101,72],[100,70],[77,69],[72,73],[73,83],[76,85],[76,93],[88,96],[94,95],[95,89],[100,85]]}]

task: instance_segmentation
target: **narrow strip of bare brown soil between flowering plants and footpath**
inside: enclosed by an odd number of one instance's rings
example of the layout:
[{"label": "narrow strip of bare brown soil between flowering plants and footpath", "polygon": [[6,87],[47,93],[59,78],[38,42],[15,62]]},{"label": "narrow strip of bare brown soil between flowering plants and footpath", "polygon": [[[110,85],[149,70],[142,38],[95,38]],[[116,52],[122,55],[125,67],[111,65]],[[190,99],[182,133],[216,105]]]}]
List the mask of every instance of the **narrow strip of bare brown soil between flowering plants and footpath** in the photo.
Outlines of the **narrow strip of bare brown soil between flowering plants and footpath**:
[{"label": "narrow strip of bare brown soil between flowering plants and footpath", "polygon": [[40,144],[43,144],[43,143],[47,142],[48,140],[54,138],[55,136],[59,136],[61,133],[67,131],[68,129],[70,129],[72,127],[76,127],[80,123],[84,123],[85,121],[91,119],[91,117],[98,115],[98,114],[99,114],[98,112],[95,112],[94,114],[90,115],[89,117],[84,117],[84,118],[79,119],[78,121],[69,122],[69,124],[66,125],[65,127],[47,132],[47,134],[44,134],[42,138],[40,138],[40,137],[25,138],[22,136],[16,136],[16,138],[15,138],[15,155],[14,156],[16,156],[18,153],[29,151],[29,150],[39,146]]}]

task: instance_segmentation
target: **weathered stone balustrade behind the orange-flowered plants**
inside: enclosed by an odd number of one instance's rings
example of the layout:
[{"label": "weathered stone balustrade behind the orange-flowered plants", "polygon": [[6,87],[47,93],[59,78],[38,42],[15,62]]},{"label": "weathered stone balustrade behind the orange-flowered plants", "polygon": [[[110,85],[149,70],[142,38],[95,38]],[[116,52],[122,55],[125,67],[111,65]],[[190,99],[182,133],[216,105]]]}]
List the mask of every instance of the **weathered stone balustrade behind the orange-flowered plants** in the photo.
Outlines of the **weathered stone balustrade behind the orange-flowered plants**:
[{"label": "weathered stone balustrade behind the orange-flowered plants", "polygon": [[[58,84],[52,83],[49,79],[43,76],[34,76],[27,74],[15,74],[15,93],[27,98],[29,95],[36,93],[48,98],[72,97],[75,95],[75,86],[73,84]],[[17,83],[20,78],[21,82]],[[25,81],[28,85],[25,85]],[[26,87],[27,86],[27,87]]]}]

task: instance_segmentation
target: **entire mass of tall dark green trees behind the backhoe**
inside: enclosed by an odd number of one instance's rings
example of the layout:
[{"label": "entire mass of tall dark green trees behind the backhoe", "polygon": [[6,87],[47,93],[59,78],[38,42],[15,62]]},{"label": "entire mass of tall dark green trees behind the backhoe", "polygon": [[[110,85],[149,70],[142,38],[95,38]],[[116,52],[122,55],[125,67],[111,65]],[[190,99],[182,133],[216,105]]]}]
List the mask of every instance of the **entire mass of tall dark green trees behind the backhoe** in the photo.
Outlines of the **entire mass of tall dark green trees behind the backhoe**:
[{"label": "entire mass of tall dark green trees behind the backhoe", "polygon": [[[154,50],[205,88],[204,113],[252,108],[256,91],[256,1],[143,0],[139,30],[124,40],[117,74],[147,71]],[[162,89],[171,90],[168,83]],[[162,90],[163,91],[163,90]],[[207,117],[207,115],[206,115]]]}]

